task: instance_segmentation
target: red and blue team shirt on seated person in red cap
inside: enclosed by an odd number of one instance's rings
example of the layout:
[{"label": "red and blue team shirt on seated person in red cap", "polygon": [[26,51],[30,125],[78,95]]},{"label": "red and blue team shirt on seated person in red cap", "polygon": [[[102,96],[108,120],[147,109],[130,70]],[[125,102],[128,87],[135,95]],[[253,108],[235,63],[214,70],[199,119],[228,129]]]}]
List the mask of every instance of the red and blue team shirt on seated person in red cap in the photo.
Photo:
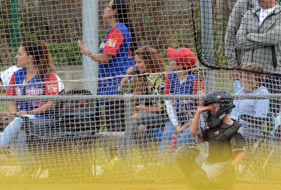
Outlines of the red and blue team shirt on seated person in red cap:
[{"label": "red and blue team shirt on seated person in red cap", "polygon": [[[198,79],[197,75],[192,75],[188,72],[186,80],[180,84],[177,73],[170,70],[165,77],[165,92],[164,94],[204,94],[204,83]],[[179,113],[180,104],[184,105],[186,111],[195,110],[200,106],[200,102],[193,102],[191,100],[174,100],[173,102],[176,113]]]}]

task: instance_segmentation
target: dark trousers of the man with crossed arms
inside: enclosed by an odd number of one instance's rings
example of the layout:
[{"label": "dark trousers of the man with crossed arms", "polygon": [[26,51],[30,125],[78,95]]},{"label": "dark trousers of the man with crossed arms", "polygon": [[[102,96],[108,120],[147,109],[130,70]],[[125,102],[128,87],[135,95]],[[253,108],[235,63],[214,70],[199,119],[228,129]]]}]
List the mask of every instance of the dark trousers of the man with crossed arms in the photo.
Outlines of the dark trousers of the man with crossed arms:
[{"label": "dark trousers of the man with crossed arms", "polygon": [[[281,94],[280,77],[267,75],[267,77],[265,78],[265,87],[271,94]],[[277,98],[271,99],[270,108],[275,115],[279,113],[281,111],[281,100]]]}]

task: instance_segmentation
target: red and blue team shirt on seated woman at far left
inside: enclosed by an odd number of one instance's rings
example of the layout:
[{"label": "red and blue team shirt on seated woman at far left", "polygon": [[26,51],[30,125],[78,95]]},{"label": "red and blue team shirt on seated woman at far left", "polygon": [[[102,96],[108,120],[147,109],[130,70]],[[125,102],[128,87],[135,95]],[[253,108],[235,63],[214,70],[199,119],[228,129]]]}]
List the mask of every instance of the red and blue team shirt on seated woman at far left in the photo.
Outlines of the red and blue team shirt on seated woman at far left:
[{"label": "red and blue team shirt on seated woman at far left", "polygon": [[[58,95],[58,83],[56,75],[51,73],[47,77],[37,79],[37,75],[34,76],[27,84],[25,84],[26,68],[22,68],[13,73],[7,89],[7,96],[40,96],[40,95]],[[36,83],[37,82],[37,83]],[[48,82],[39,83],[38,82]],[[25,84],[25,85],[23,85]],[[19,111],[29,111],[44,105],[46,101],[18,101]],[[50,119],[52,113],[45,112],[42,114],[35,114],[35,117]]]}]

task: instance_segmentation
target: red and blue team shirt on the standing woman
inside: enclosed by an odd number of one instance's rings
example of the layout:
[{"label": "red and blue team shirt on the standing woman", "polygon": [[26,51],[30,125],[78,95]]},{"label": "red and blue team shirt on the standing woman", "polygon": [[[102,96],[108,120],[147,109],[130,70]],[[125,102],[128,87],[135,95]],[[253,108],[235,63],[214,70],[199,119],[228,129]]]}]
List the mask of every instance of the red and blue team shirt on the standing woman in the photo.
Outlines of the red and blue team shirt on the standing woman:
[{"label": "red and blue team shirt on the standing woman", "polygon": [[[112,59],[107,64],[99,63],[99,95],[119,94],[120,75],[126,75],[127,69],[134,66],[131,45],[130,31],[122,22],[113,27],[102,40],[100,53],[110,54]],[[102,79],[107,77],[112,78]]]}]

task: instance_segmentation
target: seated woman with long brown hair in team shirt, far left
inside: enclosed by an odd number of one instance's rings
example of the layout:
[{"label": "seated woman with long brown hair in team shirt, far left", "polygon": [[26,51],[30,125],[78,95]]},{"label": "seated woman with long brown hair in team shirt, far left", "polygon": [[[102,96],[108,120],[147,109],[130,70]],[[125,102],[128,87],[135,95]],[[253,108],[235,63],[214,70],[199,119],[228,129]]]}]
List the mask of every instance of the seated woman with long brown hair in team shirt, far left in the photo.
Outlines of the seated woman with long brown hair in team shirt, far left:
[{"label": "seated woman with long brown hair in team shirt, far left", "polygon": [[[54,75],[52,57],[45,43],[24,42],[16,56],[17,67],[13,73],[7,96],[40,96],[58,95],[58,82]],[[10,115],[25,115],[29,118],[52,118],[53,101],[19,100],[9,103]],[[3,131],[0,138],[0,149],[6,149],[20,135],[23,119],[16,117]],[[21,143],[20,146],[23,146]]]}]

